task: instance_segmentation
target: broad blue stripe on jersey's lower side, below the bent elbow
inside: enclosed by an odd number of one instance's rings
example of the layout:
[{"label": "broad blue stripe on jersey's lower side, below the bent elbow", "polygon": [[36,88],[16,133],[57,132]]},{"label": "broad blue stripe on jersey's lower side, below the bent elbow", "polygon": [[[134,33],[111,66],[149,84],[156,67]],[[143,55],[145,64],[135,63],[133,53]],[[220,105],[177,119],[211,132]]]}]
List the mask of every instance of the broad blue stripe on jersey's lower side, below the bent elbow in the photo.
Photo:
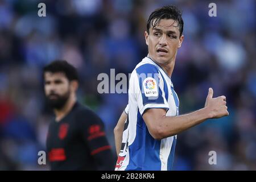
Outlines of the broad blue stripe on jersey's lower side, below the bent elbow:
[{"label": "broad blue stripe on jersey's lower side, below the bent elbow", "polygon": [[125,170],[161,170],[159,153],[160,140],[152,138],[138,110],[136,137],[129,146],[129,164]]}]

